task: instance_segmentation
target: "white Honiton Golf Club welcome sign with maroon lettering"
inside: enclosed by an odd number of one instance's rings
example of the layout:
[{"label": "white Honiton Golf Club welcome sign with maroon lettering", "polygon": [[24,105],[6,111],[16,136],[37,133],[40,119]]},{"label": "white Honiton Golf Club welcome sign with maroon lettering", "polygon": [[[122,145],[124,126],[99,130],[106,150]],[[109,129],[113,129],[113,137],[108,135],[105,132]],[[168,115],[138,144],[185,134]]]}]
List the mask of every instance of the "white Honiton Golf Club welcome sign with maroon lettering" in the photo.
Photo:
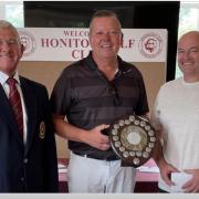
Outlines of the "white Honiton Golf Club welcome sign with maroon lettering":
[{"label": "white Honiton Golf Club welcome sign with maroon lettering", "polygon": [[[91,51],[88,29],[18,29],[25,48],[22,61],[77,61]],[[166,62],[167,30],[123,29],[119,55],[126,62]]]}]

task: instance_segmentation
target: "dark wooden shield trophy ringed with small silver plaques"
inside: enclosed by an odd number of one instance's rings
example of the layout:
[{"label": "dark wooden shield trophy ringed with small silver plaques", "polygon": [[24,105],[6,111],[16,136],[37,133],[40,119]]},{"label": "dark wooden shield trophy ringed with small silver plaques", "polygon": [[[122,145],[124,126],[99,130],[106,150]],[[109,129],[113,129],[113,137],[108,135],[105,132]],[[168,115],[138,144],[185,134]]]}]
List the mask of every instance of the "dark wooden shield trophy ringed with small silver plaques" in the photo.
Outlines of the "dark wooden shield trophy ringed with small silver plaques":
[{"label": "dark wooden shield trophy ringed with small silver plaques", "polygon": [[139,167],[151,157],[156,133],[148,119],[129,115],[111,125],[109,140],[125,165]]}]

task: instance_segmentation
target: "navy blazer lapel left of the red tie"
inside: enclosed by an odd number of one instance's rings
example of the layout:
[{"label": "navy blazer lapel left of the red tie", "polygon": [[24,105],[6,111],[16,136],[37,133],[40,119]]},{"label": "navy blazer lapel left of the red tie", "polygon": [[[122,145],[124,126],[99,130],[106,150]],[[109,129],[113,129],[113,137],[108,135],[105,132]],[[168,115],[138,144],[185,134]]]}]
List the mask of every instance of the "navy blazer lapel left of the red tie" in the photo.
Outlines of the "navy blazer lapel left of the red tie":
[{"label": "navy blazer lapel left of the red tie", "polygon": [[17,122],[14,115],[12,114],[11,106],[9,104],[8,97],[4,93],[2,85],[0,84],[0,117],[8,124],[10,130],[13,133],[13,136],[19,142],[20,146],[23,149],[23,140],[20,137]]}]

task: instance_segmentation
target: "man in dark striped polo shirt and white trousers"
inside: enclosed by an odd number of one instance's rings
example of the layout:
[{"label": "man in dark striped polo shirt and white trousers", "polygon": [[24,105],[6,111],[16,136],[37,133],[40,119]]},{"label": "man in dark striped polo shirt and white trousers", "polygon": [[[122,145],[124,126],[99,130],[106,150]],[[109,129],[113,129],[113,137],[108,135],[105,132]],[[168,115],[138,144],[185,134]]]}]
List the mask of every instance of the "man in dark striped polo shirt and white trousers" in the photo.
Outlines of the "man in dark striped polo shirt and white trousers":
[{"label": "man in dark striped polo shirt and white trousers", "polygon": [[122,27],[112,11],[90,24],[92,51],[64,69],[51,105],[56,133],[69,139],[70,192],[134,192],[136,169],[122,167],[105,132],[116,119],[148,112],[140,72],[118,55]]}]

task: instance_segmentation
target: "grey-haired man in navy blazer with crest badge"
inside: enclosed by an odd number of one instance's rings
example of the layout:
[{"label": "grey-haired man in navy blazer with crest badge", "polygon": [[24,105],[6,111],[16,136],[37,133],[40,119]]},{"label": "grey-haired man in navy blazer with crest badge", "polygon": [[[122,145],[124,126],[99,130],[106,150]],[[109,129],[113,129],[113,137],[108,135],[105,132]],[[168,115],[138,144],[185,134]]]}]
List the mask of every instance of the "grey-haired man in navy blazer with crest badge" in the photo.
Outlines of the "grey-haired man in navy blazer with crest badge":
[{"label": "grey-haired man in navy blazer with crest badge", "polygon": [[[0,192],[56,192],[57,159],[46,88],[18,74],[23,45],[17,29],[0,20]],[[17,81],[23,136],[9,103],[7,80]]]}]

